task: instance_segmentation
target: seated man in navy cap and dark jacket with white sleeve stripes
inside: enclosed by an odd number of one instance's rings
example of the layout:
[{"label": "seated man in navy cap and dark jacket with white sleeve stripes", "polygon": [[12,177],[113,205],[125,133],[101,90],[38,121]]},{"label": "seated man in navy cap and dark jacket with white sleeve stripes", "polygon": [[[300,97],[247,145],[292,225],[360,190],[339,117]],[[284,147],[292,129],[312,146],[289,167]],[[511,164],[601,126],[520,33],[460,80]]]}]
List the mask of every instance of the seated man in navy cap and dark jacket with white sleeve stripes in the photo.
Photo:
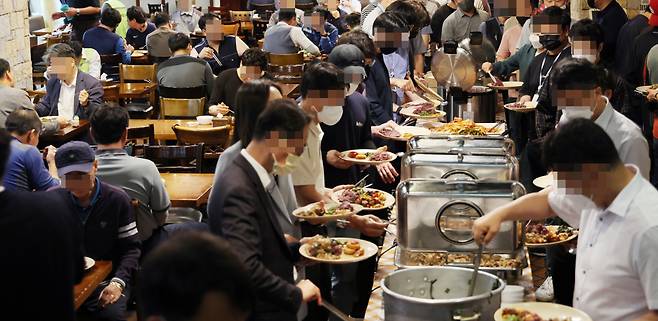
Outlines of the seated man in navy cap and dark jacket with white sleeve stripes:
[{"label": "seated man in navy cap and dark jacket with white sleeve stripes", "polygon": [[137,269],[140,241],[130,198],[96,178],[96,155],[80,141],[62,145],[55,155],[63,193],[77,214],[85,255],[111,260],[112,274],[83,303],[81,313],[103,320],[124,320],[130,278]]}]

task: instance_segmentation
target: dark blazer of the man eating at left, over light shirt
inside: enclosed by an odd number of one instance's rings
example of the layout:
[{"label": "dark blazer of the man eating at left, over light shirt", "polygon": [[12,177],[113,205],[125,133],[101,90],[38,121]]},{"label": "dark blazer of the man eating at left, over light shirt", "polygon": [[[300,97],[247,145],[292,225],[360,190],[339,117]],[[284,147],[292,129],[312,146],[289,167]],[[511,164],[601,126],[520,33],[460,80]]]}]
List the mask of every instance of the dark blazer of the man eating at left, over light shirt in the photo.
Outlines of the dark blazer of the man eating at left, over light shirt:
[{"label": "dark blazer of the man eating at left, over light shirt", "polygon": [[[51,77],[46,84],[46,96],[36,105],[39,116],[58,116],[57,103],[59,101],[59,92],[62,84],[57,77]],[[80,106],[80,92],[85,89],[89,93],[89,99],[86,107]],[[91,114],[103,104],[103,85],[98,79],[91,75],[78,70],[78,77],[75,81],[75,96],[73,97],[73,114],[80,119],[89,119]]]}]

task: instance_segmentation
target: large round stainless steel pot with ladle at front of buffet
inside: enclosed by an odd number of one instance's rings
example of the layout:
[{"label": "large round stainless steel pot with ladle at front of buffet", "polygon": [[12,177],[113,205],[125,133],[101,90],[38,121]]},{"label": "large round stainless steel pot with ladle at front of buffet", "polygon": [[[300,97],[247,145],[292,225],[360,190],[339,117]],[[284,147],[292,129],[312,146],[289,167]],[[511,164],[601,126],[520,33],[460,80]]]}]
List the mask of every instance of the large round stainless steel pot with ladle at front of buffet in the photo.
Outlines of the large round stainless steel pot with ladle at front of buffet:
[{"label": "large round stainless steel pot with ladle at front of buffet", "polygon": [[421,267],[395,271],[381,282],[386,321],[493,321],[505,282],[478,272],[468,296],[472,269]]}]

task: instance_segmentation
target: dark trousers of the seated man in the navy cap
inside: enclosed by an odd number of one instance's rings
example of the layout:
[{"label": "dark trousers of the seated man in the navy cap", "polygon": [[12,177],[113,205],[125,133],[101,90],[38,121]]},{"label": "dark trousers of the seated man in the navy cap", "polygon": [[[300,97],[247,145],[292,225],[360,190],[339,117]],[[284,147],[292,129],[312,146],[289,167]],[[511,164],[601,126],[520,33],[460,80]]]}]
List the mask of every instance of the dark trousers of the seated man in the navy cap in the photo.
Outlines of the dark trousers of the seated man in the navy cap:
[{"label": "dark trousers of the seated man in the navy cap", "polygon": [[102,282],[96,290],[89,296],[89,299],[82,304],[78,310],[78,320],[103,320],[103,321],[122,321],[126,320],[126,307],[130,298],[130,286],[126,285],[123,295],[117,302],[101,308],[98,305],[98,298],[103,289],[109,284],[109,281]]}]

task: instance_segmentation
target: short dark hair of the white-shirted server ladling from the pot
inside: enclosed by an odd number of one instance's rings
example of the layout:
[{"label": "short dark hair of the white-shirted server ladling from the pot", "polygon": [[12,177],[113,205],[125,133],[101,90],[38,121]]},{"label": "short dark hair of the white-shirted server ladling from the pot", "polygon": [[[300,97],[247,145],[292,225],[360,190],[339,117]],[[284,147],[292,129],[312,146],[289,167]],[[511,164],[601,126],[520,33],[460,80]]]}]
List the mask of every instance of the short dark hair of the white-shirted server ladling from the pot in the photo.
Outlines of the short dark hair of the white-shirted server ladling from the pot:
[{"label": "short dark hair of the white-shirted server ladling from the pot", "polygon": [[544,164],[554,171],[578,171],[584,164],[621,164],[615,144],[590,119],[577,118],[561,124],[544,141]]}]

